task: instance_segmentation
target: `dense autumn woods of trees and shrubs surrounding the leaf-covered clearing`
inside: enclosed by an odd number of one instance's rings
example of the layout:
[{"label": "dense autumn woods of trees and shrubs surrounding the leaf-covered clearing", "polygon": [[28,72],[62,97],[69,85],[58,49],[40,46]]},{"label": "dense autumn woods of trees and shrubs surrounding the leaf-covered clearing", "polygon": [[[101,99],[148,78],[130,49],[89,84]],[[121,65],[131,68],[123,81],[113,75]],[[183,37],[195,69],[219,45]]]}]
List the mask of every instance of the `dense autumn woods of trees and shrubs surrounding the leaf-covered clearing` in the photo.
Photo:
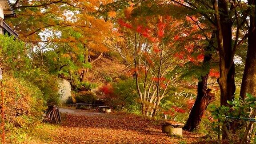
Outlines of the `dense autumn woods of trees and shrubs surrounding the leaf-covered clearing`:
[{"label": "dense autumn woods of trees and shrubs surrounding the leaf-covered clearing", "polygon": [[[10,4],[4,21],[19,37],[0,35],[7,140],[24,142],[49,105],[100,101],[216,142],[256,142],[256,0]],[[64,102],[59,80],[71,87]]]}]

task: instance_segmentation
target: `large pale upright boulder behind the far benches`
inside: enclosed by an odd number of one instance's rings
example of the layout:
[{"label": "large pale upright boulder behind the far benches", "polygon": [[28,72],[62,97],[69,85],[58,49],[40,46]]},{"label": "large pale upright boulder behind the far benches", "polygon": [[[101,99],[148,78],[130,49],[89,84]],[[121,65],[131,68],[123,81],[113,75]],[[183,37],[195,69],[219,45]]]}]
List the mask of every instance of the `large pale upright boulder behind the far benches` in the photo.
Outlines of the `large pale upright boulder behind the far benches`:
[{"label": "large pale upright boulder behind the far benches", "polygon": [[70,100],[71,97],[71,84],[68,82],[68,80],[65,79],[59,79],[59,94],[60,94],[60,103],[66,104],[68,100]]}]

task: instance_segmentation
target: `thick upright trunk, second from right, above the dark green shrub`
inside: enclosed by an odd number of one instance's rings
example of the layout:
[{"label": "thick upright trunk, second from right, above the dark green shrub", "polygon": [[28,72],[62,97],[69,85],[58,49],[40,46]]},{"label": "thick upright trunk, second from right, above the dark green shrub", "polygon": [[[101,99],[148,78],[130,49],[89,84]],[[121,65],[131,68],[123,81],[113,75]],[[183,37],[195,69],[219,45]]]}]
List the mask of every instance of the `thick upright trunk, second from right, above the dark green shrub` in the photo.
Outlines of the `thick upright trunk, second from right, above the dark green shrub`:
[{"label": "thick upright trunk, second from right, above the dark green shrub", "polygon": [[223,55],[220,56],[220,105],[228,105],[236,91],[235,64],[232,57],[232,20],[228,17],[227,0],[218,0],[220,25],[223,39]]}]

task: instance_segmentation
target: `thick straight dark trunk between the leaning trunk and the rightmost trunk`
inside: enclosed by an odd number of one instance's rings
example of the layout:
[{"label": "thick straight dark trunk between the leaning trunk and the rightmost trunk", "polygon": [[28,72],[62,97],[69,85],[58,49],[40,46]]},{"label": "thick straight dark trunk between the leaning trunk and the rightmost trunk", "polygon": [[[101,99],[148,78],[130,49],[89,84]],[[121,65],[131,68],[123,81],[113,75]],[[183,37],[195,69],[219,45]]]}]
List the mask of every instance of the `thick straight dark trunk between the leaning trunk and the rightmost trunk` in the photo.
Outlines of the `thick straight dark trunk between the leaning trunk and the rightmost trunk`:
[{"label": "thick straight dark trunk between the leaning trunk and the rightmost trunk", "polygon": [[[235,85],[235,64],[233,62],[232,49],[232,20],[229,17],[227,0],[212,0],[215,9],[217,40],[220,55],[220,105],[230,106],[227,100],[234,99]],[[217,4],[216,4],[217,2]],[[222,139],[231,138],[230,133],[234,130],[234,124],[222,125]]]}]

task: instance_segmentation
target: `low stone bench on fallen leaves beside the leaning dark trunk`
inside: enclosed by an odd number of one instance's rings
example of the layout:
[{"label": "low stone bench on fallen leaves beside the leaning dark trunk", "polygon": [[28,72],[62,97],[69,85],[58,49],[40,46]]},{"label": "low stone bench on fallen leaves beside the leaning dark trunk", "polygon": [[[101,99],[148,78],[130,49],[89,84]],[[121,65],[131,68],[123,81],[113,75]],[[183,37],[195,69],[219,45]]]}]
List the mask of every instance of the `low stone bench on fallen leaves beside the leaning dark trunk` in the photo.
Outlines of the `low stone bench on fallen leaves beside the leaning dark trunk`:
[{"label": "low stone bench on fallen leaves beside the leaning dark trunk", "polygon": [[162,132],[168,133],[169,136],[177,135],[182,136],[182,128],[184,124],[175,121],[164,121]]}]

